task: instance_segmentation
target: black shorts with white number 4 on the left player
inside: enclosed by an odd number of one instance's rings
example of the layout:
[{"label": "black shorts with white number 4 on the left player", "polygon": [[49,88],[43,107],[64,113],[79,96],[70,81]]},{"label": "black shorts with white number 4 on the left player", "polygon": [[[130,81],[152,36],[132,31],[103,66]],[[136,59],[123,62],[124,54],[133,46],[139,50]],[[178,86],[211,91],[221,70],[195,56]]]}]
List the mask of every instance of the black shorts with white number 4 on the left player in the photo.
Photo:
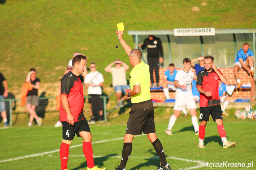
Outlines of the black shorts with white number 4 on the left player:
[{"label": "black shorts with white number 4 on the left player", "polygon": [[79,132],[91,132],[89,124],[86,119],[82,122],[75,122],[74,126],[68,124],[68,122],[61,122],[62,123],[62,139],[65,140],[73,140],[75,133],[77,137],[81,137]]}]

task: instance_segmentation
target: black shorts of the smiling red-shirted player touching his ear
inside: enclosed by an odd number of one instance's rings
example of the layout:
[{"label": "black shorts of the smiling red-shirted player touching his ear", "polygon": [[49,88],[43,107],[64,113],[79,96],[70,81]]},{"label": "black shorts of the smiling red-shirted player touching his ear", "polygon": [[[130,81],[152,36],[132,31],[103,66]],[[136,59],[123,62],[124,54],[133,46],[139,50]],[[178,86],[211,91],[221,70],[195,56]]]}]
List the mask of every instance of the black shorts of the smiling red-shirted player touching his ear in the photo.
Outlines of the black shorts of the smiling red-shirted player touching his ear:
[{"label": "black shorts of the smiling red-shirted player touching his ear", "polygon": [[201,122],[202,120],[206,122],[209,121],[210,114],[212,115],[212,120],[214,122],[216,119],[222,119],[222,111],[220,104],[208,107],[200,107],[199,111],[199,122]]}]

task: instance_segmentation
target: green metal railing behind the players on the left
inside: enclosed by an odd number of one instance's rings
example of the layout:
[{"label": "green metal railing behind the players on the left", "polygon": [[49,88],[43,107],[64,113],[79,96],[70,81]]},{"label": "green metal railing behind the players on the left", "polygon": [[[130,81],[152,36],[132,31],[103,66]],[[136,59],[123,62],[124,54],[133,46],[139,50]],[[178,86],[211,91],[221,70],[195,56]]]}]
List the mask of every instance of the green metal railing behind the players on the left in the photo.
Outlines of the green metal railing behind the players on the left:
[{"label": "green metal railing behind the players on the left", "polygon": [[[104,120],[105,122],[107,122],[107,109],[106,109],[106,99],[111,97],[112,95],[114,95],[114,93],[112,93],[111,95],[108,95],[108,96],[105,96],[105,95],[101,95],[100,98],[103,98],[103,106],[104,106],[104,109],[103,109],[103,112],[104,112]],[[56,98],[56,97],[39,97],[38,99],[39,100],[42,100],[42,99],[53,99],[53,98]],[[84,98],[91,98],[91,96],[84,96]],[[9,126],[12,126],[12,101],[20,101],[21,99],[1,99],[0,101],[9,101]]]}]

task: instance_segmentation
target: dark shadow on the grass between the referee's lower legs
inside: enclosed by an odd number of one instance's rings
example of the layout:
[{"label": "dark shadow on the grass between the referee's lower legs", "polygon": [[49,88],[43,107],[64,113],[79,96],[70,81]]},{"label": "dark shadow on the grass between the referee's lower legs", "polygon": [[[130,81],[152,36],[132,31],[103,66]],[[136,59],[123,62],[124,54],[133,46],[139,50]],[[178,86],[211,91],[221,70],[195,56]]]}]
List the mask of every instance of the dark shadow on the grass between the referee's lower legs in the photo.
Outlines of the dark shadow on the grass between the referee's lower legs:
[{"label": "dark shadow on the grass between the referee's lower legs", "polygon": [[[152,146],[153,147],[153,146]],[[156,168],[155,169],[157,169],[157,167],[160,165],[160,160],[159,160],[159,158],[158,158],[158,155],[157,155],[157,153],[155,152],[155,149],[154,148],[152,148],[152,149],[150,149],[149,150],[149,152],[150,153],[152,153],[152,154],[154,154],[155,156],[152,156],[152,157],[150,157],[150,158],[147,158],[147,159],[145,159],[147,162],[145,162],[145,163],[141,163],[141,164],[139,164],[139,165],[137,165],[137,166],[134,166],[134,167],[132,167],[131,168],[131,170],[136,170],[136,169],[140,169],[141,167],[143,167],[143,166],[156,166]],[[146,152],[145,152],[146,153]],[[143,152],[141,153],[142,155],[143,155]],[[155,157],[155,159],[152,159],[152,158],[154,158]],[[129,160],[128,160],[129,161]],[[131,161],[131,160],[130,160]]]}]

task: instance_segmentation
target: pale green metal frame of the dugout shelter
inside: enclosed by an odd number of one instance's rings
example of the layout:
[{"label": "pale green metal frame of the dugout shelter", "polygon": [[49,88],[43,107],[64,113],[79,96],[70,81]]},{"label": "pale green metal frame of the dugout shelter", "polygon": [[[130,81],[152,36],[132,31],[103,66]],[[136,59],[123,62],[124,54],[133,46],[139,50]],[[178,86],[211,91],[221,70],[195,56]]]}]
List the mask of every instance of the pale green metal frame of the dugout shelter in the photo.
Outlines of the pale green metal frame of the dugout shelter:
[{"label": "pale green metal frame of the dugout shelter", "polygon": [[[215,29],[215,35],[216,34],[233,34],[233,39],[234,39],[234,56],[236,57],[237,55],[237,48],[236,48],[236,35],[235,34],[252,34],[252,42],[253,42],[253,50],[254,53],[254,61],[255,61],[255,33],[256,29]],[[140,30],[140,31],[128,31],[128,35],[133,36],[133,41],[135,43],[135,48],[139,49],[139,35],[166,35],[167,40],[168,40],[168,46],[169,46],[169,60],[171,61],[171,42],[170,42],[170,37],[169,35],[174,35],[174,30]],[[214,35],[209,35],[209,36],[214,36]],[[203,51],[203,36],[200,36],[200,41],[201,41],[201,55],[204,55]],[[254,62],[254,68],[255,68],[255,62]],[[255,80],[255,69],[254,69],[254,80]]]}]

